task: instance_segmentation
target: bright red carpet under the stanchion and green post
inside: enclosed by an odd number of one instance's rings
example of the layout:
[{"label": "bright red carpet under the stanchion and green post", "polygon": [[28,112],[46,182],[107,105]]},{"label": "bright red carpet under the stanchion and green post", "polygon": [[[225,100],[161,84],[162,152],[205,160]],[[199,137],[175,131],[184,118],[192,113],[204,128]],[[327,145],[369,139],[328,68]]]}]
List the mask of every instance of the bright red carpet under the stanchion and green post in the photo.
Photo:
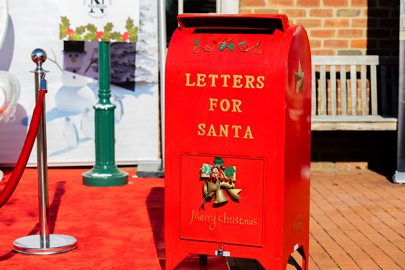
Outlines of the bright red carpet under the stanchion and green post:
[{"label": "bright red carpet under the stanchion and green post", "polygon": [[[75,250],[55,255],[13,251],[14,240],[39,234],[36,169],[26,169],[9,202],[0,209],[1,269],[164,269],[164,179],[132,178],[118,187],[88,187],[89,169],[49,169],[51,234],[78,240]],[[4,170],[5,179],[10,170]],[[0,182],[3,189],[6,180]],[[175,269],[228,269],[225,257],[208,256],[200,266],[190,255]]]}]

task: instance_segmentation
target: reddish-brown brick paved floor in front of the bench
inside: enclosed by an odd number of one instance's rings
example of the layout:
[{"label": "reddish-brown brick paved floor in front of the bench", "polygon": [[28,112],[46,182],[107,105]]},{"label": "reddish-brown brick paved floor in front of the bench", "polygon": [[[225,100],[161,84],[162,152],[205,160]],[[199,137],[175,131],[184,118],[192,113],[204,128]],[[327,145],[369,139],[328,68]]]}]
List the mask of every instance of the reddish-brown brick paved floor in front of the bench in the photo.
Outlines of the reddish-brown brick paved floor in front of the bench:
[{"label": "reddish-brown brick paved floor in front of the bench", "polygon": [[[405,184],[370,170],[312,171],[310,200],[309,269],[405,269]],[[301,264],[298,252],[292,257]],[[263,269],[255,260],[228,262],[231,270]]]}]

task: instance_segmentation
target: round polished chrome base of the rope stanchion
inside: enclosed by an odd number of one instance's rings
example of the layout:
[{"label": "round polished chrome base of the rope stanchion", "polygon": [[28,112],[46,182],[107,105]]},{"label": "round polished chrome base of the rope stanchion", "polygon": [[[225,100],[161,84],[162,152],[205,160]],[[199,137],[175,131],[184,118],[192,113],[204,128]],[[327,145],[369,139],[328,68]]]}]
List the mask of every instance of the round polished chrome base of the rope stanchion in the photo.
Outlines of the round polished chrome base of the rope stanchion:
[{"label": "round polished chrome base of the rope stanchion", "polygon": [[41,247],[41,236],[31,235],[14,241],[14,250],[24,254],[49,255],[70,251],[77,248],[76,238],[65,235],[49,235],[49,247]]}]

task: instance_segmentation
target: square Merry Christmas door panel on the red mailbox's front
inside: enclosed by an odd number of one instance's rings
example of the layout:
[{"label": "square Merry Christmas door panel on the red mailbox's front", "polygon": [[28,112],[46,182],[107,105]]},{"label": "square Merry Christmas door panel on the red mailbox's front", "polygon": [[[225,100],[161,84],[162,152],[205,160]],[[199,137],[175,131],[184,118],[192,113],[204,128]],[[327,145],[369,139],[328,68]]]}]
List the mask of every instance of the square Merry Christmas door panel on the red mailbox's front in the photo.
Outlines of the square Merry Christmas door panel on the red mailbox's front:
[{"label": "square Merry Christmas door panel on the red mailbox's front", "polygon": [[[235,189],[223,186],[220,194],[216,193],[219,189],[209,177],[212,168],[215,168],[215,158],[223,162],[223,170],[230,170],[227,173],[231,174],[228,179],[224,177],[218,181],[224,185],[230,185],[232,181]],[[214,156],[181,156],[180,238],[263,246],[264,160],[220,158],[222,160]],[[212,190],[208,192],[215,192],[211,197],[203,192],[207,184]],[[232,191],[240,199],[232,198]],[[221,199],[224,202],[215,203]]]}]

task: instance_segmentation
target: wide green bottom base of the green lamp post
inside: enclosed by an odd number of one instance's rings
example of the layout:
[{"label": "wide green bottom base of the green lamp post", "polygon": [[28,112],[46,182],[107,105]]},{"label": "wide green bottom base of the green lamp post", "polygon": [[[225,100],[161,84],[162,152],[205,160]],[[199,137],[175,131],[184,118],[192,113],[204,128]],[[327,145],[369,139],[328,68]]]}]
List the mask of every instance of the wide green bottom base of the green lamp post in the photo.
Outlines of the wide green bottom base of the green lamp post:
[{"label": "wide green bottom base of the green lamp post", "polygon": [[82,174],[83,184],[87,186],[120,186],[128,184],[128,173],[118,167],[100,169],[96,166]]}]

